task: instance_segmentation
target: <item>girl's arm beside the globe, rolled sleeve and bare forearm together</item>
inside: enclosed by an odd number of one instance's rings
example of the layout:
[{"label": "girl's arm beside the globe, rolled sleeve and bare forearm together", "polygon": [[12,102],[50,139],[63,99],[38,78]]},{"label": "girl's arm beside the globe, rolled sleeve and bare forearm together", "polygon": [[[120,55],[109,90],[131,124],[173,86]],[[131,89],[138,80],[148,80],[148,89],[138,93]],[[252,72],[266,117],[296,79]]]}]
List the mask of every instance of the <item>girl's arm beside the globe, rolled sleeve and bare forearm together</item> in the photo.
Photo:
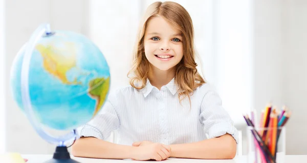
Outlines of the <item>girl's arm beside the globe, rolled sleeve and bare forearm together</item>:
[{"label": "girl's arm beside the globe, rolled sleeve and bare forearm together", "polygon": [[115,109],[114,94],[110,94],[100,112],[88,123],[77,129],[80,139],[72,146],[72,154],[78,157],[131,158],[131,147],[105,141],[120,126]]}]

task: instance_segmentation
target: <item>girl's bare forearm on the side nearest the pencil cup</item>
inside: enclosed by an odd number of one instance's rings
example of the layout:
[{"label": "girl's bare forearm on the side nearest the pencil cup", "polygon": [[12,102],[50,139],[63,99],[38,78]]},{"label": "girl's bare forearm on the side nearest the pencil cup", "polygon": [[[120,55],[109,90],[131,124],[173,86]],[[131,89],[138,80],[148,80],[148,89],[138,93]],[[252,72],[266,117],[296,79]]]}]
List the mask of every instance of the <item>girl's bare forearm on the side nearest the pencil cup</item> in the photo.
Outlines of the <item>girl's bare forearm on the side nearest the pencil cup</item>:
[{"label": "girl's bare forearm on the side nearest the pencil cup", "polygon": [[171,157],[199,159],[232,159],[236,141],[230,134],[187,144],[170,145]]}]

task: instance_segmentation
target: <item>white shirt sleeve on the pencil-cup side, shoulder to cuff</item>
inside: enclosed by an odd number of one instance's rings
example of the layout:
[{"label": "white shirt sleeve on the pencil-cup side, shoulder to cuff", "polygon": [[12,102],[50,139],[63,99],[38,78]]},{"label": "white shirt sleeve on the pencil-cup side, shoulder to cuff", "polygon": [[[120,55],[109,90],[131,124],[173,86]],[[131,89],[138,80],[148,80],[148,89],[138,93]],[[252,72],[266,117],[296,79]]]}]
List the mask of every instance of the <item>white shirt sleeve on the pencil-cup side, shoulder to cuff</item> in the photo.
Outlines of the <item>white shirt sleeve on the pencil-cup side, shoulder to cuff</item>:
[{"label": "white shirt sleeve on the pencil-cup side, shoulder to cuff", "polygon": [[200,121],[209,138],[218,137],[229,133],[238,143],[237,129],[233,121],[222,107],[222,100],[215,91],[208,91],[202,100]]}]

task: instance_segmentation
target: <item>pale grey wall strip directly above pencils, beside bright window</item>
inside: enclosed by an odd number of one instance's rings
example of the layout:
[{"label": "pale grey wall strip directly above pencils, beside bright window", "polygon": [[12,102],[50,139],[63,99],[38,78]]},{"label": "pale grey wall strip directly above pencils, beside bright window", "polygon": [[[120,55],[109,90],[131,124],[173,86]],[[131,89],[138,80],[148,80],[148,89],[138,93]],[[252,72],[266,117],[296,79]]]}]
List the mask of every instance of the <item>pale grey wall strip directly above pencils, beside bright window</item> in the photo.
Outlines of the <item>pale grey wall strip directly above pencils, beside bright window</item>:
[{"label": "pale grey wall strip directly above pencils, beside bright window", "polygon": [[282,17],[280,1],[254,1],[254,106],[280,106]]}]

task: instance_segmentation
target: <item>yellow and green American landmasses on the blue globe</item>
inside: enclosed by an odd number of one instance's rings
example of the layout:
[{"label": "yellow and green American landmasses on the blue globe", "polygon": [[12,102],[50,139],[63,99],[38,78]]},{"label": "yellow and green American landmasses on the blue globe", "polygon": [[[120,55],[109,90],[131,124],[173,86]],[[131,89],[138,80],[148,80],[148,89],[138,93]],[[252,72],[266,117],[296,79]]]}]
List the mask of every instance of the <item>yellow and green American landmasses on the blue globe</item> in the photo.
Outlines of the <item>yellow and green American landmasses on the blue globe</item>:
[{"label": "yellow and green American landmasses on the blue globe", "polygon": [[[55,46],[47,45],[44,46],[42,44],[36,45],[35,49],[39,51],[43,58],[43,68],[50,73],[51,75],[56,76],[59,80],[62,81],[63,84],[67,85],[81,85],[82,82],[77,80],[77,77],[74,77],[74,80],[69,81],[67,78],[67,72],[76,67],[76,50],[74,43],[66,42],[65,48],[56,49]],[[63,55],[63,54],[67,55]],[[79,68],[78,68],[79,69]],[[82,75],[89,75],[87,73],[81,73],[81,69],[78,76],[82,77]],[[102,107],[105,97],[108,92],[109,87],[109,78],[94,78],[89,82],[89,95],[90,97],[97,100],[95,112],[93,116],[95,116],[100,108]]]}]

